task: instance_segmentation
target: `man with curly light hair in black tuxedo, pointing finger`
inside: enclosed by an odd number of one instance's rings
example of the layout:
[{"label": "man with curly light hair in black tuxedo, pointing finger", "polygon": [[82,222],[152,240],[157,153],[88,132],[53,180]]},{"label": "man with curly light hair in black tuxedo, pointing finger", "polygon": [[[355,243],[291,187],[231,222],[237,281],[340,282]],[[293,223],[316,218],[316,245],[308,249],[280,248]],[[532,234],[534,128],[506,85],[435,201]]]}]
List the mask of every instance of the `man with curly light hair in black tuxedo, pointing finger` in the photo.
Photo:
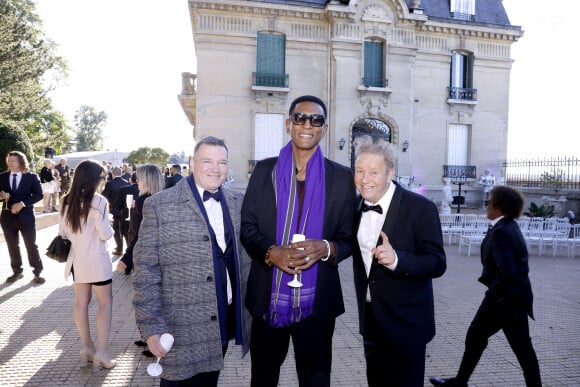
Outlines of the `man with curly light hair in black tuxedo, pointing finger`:
[{"label": "man with curly light hair in black tuxedo, pointing finger", "polygon": [[367,380],[371,387],[423,386],[425,347],[435,336],[432,278],[446,269],[439,214],[391,179],[395,147],[355,140],[353,268]]}]

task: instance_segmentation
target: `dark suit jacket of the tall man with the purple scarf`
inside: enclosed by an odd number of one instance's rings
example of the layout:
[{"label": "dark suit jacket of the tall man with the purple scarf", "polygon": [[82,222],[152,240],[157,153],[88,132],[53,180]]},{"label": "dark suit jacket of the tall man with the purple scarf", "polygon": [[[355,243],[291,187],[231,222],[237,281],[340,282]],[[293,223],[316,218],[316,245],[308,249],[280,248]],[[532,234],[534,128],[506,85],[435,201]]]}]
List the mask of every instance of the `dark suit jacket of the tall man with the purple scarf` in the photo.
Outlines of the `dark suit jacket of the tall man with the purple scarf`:
[{"label": "dark suit jacket of the tall man with the purple scarf", "polygon": [[[268,312],[273,268],[264,263],[266,251],[276,244],[276,198],[272,171],[277,158],[260,161],[254,168],[242,206],[240,239],[252,257],[246,306],[253,316]],[[319,320],[344,313],[338,263],[352,252],[352,224],[355,187],[352,172],[333,161],[324,160],[326,202],[323,239],[336,247],[335,263],[319,262],[313,316]]]}]

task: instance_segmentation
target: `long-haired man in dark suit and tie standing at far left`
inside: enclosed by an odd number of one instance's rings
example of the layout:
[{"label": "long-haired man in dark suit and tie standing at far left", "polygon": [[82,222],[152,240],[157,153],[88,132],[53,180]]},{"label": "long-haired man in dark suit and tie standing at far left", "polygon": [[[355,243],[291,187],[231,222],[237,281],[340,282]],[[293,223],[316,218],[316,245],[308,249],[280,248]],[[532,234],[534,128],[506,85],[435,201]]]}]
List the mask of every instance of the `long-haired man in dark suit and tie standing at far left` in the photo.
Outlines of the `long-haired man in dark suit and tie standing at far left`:
[{"label": "long-haired man in dark suit and tie standing at far left", "polygon": [[4,232],[4,239],[10,254],[10,265],[13,275],[6,279],[12,283],[23,277],[22,255],[20,254],[19,235],[22,234],[28,263],[33,267],[34,282],[42,284],[42,260],[36,245],[36,220],[34,217],[34,203],[42,200],[40,180],[34,173],[28,172],[28,160],[21,152],[12,151],[6,157],[8,172],[0,173],[0,200],[2,214],[0,223]]}]

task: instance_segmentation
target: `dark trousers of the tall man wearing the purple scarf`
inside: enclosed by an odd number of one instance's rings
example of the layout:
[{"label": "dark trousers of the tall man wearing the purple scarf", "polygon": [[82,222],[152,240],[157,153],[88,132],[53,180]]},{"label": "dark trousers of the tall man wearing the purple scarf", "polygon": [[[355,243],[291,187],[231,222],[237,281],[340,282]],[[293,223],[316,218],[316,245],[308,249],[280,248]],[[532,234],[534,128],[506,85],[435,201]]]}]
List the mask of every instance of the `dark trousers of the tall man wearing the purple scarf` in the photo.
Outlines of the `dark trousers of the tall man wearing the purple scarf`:
[{"label": "dark trousers of the tall man wearing the purple scarf", "polygon": [[[332,363],[332,335],[335,320],[316,320],[308,317],[289,327],[271,327],[260,317],[252,319],[253,387],[276,387],[280,367],[290,345],[294,346],[296,371],[300,387],[330,386]],[[287,384],[282,381],[282,385]]]}]

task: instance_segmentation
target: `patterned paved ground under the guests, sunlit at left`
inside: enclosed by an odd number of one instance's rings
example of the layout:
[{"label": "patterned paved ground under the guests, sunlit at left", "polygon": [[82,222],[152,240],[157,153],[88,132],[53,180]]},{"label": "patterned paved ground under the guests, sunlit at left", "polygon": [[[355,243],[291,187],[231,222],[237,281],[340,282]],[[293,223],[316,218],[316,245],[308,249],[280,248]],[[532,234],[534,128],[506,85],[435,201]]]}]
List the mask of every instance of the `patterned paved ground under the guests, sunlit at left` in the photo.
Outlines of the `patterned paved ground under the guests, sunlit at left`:
[{"label": "patterned paved ground under the guests, sunlit at left", "polygon": [[[57,233],[57,226],[38,232],[41,252]],[[446,246],[448,270],[434,281],[437,336],[427,347],[428,376],[453,375],[463,352],[467,327],[483,297],[476,279],[481,270],[478,254],[457,253]],[[26,259],[25,259],[26,261]],[[80,368],[79,336],[73,318],[72,281],[63,278],[64,265],[43,260],[44,285],[32,282],[28,263],[24,278],[3,283],[11,274],[6,244],[0,240],[0,385],[1,386],[156,386],[159,379],[147,375],[152,361],[134,345],[135,327],[130,277],[115,273],[114,310],[110,352],[118,361],[112,370],[92,372]],[[115,264],[115,263],[114,263]],[[580,258],[530,257],[535,293],[536,321],[530,333],[546,386],[580,385]],[[332,363],[333,386],[364,386],[365,362],[358,334],[351,263],[341,265],[346,313],[336,322]],[[96,300],[90,315],[95,335]],[[393,354],[396,356],[396,354]],[[249,355],[240,359],[238,347],[230,346],[220,386],[248,386]],[[494,336],[478,365],[472,386],[522,386],[523,376],[503,334]],[[283,366],[281,386],[297,386],[293,354]]]}]

